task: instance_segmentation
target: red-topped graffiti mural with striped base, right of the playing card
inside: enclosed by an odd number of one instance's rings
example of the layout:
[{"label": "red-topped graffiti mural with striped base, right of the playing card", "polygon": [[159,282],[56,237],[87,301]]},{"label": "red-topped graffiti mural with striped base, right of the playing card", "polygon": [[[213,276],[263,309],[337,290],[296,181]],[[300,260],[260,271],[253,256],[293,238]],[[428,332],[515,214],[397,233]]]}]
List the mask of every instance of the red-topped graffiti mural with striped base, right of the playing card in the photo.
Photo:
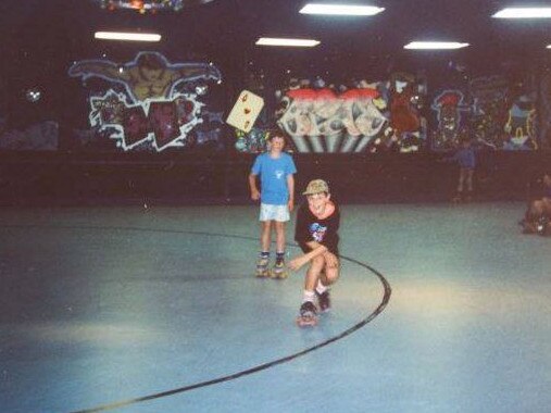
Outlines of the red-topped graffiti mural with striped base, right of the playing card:
[{"label": "red-topped graffiti mural with striped base, right of the playing card", "polygon": [[[275,123],[298,152],[412,152],[424,146],[418,85],[411,75],[350,88],[292,78],[276,97]],[[236,148],[258,151],[262,137],[261,127],[237,132]]]}]

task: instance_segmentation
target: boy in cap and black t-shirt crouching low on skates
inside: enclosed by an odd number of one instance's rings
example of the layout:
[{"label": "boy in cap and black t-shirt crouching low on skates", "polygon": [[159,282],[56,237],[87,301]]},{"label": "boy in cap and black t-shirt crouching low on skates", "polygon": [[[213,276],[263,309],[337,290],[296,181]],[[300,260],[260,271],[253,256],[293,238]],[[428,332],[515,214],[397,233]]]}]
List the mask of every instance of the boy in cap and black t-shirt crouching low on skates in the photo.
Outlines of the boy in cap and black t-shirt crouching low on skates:
[{"label": "boy in cap and black t-shirt crouching low on skates", "polygon": [[330,309],[329,285],[339,278],[339,236],[340,212],[330,199],[329,187],[325,180],[315,179],[308,184],[308,203],[302,204],[297,214],[295,240],[304,252],[289,262],[289,268],[297,271],[310,263],[304,279],[304,296],[297,323],[300,326],[317,323],[317,304],[321,312]]}]

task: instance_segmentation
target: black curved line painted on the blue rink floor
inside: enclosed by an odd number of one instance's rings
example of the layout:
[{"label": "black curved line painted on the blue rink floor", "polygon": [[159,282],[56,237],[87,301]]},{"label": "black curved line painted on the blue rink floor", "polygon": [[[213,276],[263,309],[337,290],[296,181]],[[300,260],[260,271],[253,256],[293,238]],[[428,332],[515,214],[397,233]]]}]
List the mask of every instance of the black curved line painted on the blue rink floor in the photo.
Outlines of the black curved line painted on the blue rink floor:
[{"label": "black curved line painted on the blue rink floor", "polygon": [[[204,235],[204,236],[212,236],[212,237],[240,238],[240,239],[247,239],[247,240],[258,240],[254,237],[248,237],[248,236],[241,236],[241,235],[233,236],[233,235],[227,235],[227,234],[214,234],[214,233],[203,233],[203,231],[192,231],[192,230],[187,231],[187,230],[177,230],[177,229],[153,229],[153,228],[141,228],[141,227],[62,226],[62,225],[60,225],[60,226],[48,226],[48,225],[0,225],[0,226],[1,227],[9,227],[9,228],[52,228],[52,229],[61,228],[61,229],[136,230],[136,231],[145,231],[145,233],[149,231],[149,233],[168,233],[168,234],[193,234],[193,235]],[[298,247],[297,245],[293,245],[293,243],[288,243],[288,246]],[[239,373],[235,373],[235,374],[230,374],[230,375],[227,375],[227,376],[214,378],[212,380],[205,380],[205,381],[196,383],[195,385],[179,387],[179,388],[176,388],[176,389],[173,389],[173,390],[162,391],[162,392],[158,392],[158,393],[153,393],[153,395],[149,395],[149,396],[143,396],[143,397],[135,398],[135,399],[123,400],[123,401],[118,401],[118,402],[114,402],[114,403],[110,403],[110,404],[103,404],[103,405],[99,405],[99,406],[92,408],[92,409],[78,410],[78,411],[75,411],[73,413],[104,412],[104,411],[108,411],[108,410],[123,408],[123,406],[126,406],[126,405],[129,405],[129,404],[136,404],[136,403],[142,402],[142,401],[148,401],[148,400],[153,400],[153,399],[160,399],[160,398],[163,398],[163,397],[167,397],[167,396],[172,396],[172,395],[176,395],[176,393],[181,393],[181,392],[185,392],[185,391],[190,391],[190,390],[198,389],[198,388],[201,388],[201,387],[216,385],[218,383],[234,380],[234,379],[239,378],[241,376],[247,376],[247,375],[250,375],[250,374],[253,374],[253,373],[256,373],[256,372],[261,372],[261,371],[270,368],[270,367],[274,367],[274,366],[276,366],[278,364],[290,362],[291,360],[295,360],[297,358],[305,355],[305,354],[308,354],[308,353],[310,353],[310,352],[312,352],[314,350],[318,350],[318,349],[321,349],[321,348],[323,348],[325,346],[330,345],[331,342],[341,340],[345,337],[350,336],[352,333],[359,330],[360,328],[362,328],[366,324],[371,323],[377,315],[379,315],[383,312],[383,310],[385,310],[385,308],[388,304],[388,301],[390,300],[390,295],[392,293],[392,289],[390,288],[390,284],[387,281],[387,279],[385,278],[385,276],[383,274],[380,274],[377,270],[373,268],[372,266],[370,266],[367,264],[364,264],[364,263],[362,263],[362,262],[360,262],[358,260],[354,260],[354,259],[351,259],[351,258],[348,258],[348,256],[340,255],[340,258],[342,260],[346,260],[346,261],[352,262],[352,263],[354,263],[356,265],[360,265],[360,266],[362,266],[362,267],[371,271],[373,274],[375,274],[378,277],[378,279],[380,280],[380,283],[383,284],[383,287],[385,289],[385,293],[383,295],[383,300],[380,301],[379,305],[375,309],[375,311],[373,311],[373,313],[371,313],[366,318],[362,320],[360,323],[358,323],[358,324],[353,325],[352,327],[350,327],[349,329],[342,331],[338,336],[331,337],[331,338],[329,338],[329,339],[327,339],[325,341],[320,342],[316,346],[310,347],[310,348],[308,348],[305,350],[302,350],[302,351],[300,351],[298,353],[295,353],[295,354],[291,354],[291,355],[287,355],[287,356],[281,358],[281,359],[277,359],[277,360],[274,360],[274,361],[271,361],[271,362],[258,365],[258,366],[252,367],[252,368],[243,370],[242,372],[239,372]]]}]

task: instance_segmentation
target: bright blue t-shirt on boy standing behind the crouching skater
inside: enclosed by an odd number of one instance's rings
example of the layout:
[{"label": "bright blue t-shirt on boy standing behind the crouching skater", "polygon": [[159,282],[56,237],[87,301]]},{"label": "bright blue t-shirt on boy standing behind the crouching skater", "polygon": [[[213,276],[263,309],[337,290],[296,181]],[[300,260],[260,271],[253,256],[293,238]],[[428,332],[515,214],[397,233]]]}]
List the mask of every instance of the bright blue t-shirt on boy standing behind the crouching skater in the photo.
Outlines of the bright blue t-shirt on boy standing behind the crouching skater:
[{"label": "bright blue t-shirt on boy standing behind the crouching skater", "polygon": [[287,176],[297,173],[292,158],[281,152],[279,158],[272,158],[270,153],[256,157],[251,173],[260,175],[261,202],[272,205],[285,205],[289,201]]}]

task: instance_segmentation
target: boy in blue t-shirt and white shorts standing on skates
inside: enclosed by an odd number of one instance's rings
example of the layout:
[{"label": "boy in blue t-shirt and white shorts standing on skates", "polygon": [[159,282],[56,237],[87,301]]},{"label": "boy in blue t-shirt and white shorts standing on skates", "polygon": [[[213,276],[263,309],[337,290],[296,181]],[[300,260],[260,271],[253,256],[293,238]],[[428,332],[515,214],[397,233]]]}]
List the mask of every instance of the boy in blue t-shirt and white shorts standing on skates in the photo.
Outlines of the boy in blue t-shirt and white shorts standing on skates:
[{"label": "boy in blue t-shirt and white shorts standing on skates", "polygon": [[[285,138],[279,132],[272,132],[268,136],[270,151],[260,154],[254,160],[249,174],[251,199],[260,199],[261,222],[261,252],[256,261],[256,276],[285,278],[285,223],[289,221],[289,213],[295,206],[295,177],[297,173],[292,158],[283,152]],[[261,190],[256,187],[256,176],[260,175]],[[276,231],[276,260],[272,273],[268,272],[270,245],[272,242],[272,226]]]}]

